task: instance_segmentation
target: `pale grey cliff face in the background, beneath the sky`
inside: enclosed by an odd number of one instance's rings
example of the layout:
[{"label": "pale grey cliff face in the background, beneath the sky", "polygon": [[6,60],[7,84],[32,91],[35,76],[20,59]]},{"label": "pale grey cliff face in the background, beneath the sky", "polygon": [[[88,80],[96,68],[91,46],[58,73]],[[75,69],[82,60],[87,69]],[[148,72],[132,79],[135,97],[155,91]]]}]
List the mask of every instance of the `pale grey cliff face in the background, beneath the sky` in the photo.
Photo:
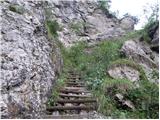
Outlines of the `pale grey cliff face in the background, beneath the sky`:
[{"label": "pale grey cliff face in the background, beneath the sky", "polygon": [[109,17],[97,1],[48,1],[47,4],[48,10],[53,13],[52,19],[63,28],[58,34],[65,46],[77,41],[96,43],[116,38],[134,28],[130,17],[121,22],[113,16]]}]

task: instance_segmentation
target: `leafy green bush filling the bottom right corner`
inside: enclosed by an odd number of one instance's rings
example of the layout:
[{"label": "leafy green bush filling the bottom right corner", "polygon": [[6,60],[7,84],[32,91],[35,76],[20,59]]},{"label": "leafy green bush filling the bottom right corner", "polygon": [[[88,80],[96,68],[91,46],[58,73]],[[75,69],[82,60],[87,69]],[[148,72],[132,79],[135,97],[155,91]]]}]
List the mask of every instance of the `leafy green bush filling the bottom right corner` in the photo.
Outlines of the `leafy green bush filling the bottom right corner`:
[{"label": "leafy green bush filling the bottom right corner", "polygon": [[137,110],[143,113],[142,118],[159,117],[158,86],[149,81],[143,82],[140,88],[128,91],[127,97],[133,101]]}]

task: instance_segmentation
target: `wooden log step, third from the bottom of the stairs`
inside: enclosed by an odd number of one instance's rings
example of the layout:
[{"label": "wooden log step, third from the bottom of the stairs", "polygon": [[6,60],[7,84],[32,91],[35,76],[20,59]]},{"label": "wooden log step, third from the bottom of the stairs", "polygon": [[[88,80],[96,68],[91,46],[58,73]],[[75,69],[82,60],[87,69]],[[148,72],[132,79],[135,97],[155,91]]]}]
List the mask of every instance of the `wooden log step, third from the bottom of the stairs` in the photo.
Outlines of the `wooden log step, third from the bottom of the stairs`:
[{"label": "wooden log step, third from the bottom of the stairs", "polygon": [[97,102],[95,99],[78,99],[78,100],[57,100],[58,103],[94,103]]}]

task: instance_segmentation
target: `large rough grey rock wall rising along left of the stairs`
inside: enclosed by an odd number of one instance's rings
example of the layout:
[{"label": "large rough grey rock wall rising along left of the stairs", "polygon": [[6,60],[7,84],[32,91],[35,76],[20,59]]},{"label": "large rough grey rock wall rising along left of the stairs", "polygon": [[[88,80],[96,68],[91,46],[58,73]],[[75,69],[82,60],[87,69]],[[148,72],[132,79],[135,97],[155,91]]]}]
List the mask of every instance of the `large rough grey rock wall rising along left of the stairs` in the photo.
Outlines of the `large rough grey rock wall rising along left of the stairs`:
[{"label": "large rough grey rock wall rising along left of the stairs", "polygon": [[40,118],[60,70],[60,51],[47,39],[42,2],[1,1],[1,8],[1,117]]}]

